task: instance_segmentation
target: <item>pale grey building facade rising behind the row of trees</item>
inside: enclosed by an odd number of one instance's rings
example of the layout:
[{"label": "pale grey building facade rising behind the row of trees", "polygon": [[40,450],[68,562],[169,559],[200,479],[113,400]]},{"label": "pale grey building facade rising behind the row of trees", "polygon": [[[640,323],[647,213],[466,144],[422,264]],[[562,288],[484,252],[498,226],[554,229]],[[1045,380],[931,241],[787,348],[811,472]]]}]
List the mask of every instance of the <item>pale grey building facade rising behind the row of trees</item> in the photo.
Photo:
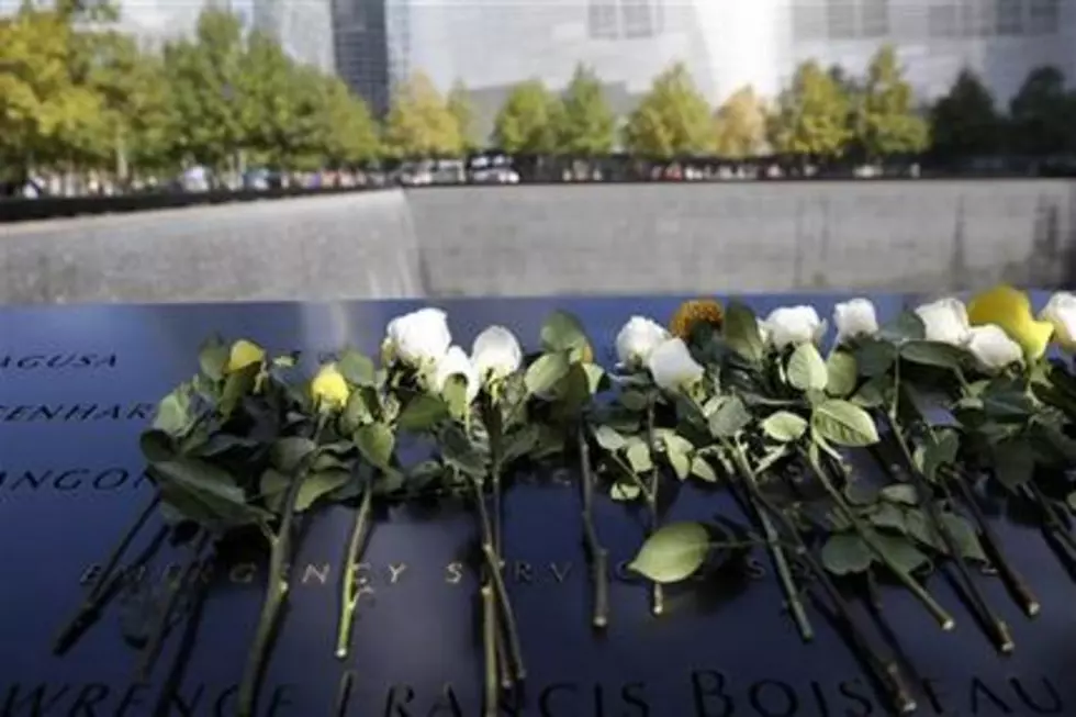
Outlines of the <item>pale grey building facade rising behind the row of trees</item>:
[{"label": "pale grey building facade rising behind the row of trees", "polygon": [[887,43],[924,100],[964,67],[1001,102],[1036,66],[1076,79],[1076,0],[379,1],[390,83],[418,70],[446,91],[462,81],[485,127],[513,85],[562,89],[578,63],[619,111],[674,61],[719,103],[746,85],[774,97],[809,58],[860,74]]}]

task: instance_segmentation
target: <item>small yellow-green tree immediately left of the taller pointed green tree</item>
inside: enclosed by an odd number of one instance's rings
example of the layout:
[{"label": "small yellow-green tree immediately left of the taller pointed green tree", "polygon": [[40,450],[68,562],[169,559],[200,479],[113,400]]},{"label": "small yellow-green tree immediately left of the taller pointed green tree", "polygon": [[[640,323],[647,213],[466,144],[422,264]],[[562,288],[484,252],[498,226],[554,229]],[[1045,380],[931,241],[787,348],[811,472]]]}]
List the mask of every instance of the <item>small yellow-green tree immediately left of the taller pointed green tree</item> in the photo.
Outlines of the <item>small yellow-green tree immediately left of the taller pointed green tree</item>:
[{"label": "small yellow-green tree immediately left of the taller pointed green tree", "polygon": [[509,154],[545,155],[559,149],[560,107],[541,80],[512,88],[493,120],[493,142]]}]

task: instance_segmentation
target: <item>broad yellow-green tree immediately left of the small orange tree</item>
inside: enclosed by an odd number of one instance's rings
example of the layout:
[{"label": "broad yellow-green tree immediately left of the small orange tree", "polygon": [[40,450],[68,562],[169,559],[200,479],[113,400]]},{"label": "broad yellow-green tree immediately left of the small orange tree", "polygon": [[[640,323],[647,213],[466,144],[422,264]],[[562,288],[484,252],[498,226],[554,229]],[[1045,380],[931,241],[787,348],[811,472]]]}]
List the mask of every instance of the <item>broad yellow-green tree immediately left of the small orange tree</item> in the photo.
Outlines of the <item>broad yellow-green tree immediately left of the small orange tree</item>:
[{"label": "broad yellow-green tree immediately left of the small orange tree", "polygon": [[713,119],[691,72],[677,63],[654,78],[650,91],[628,116],[624,144],[654,158],[700,154],[713,147]]}]

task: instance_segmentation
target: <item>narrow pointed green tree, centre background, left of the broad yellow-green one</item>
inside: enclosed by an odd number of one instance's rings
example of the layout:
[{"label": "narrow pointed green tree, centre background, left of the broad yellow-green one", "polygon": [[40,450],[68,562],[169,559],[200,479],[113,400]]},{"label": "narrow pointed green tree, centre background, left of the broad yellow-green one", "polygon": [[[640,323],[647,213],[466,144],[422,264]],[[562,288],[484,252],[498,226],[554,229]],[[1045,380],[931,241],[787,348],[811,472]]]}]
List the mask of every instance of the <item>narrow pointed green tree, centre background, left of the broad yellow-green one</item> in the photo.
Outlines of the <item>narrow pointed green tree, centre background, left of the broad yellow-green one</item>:
[{"label": "narrow pointed green tree, centre background, left of the broad yellow-green one", "polygon": [[607,155],[616,141],[616,115],[602,82],[583,65],[575,66],[557,113],[557,149],[574,157]]}]

